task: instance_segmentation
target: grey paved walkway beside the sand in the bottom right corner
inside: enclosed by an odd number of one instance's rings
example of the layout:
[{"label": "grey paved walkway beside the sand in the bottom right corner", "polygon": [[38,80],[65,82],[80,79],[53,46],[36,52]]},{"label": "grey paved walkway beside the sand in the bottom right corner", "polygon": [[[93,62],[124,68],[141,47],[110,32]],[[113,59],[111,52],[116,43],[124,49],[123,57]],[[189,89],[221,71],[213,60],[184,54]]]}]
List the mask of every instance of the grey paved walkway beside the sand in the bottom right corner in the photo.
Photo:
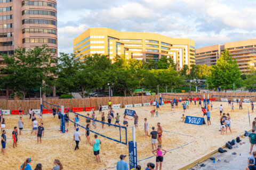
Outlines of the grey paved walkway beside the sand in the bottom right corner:
[{"label": "grey paved walkway beside the sand in the bottom right corner", "polygon": [[[211,169],[218,169],[218,170],[230,170],[230,169],[236,169],[236,170],[244,170],[247,167],[247,159],[250,156],[250,142],[249,138],[240,138],[242,142],[245,142],[243,145],[238,144],[238,148],[228,149],[227,152],[221,154],[218,153],[214,155],[213,157],[216,158],[216,160],[220,159],[220,162],[213,163],[213,160],[207,159],[203,163],[206,166],[204,167],[193,167],[191,169],[200,169],[200,170],[211,170]],[[240,142],[241,143],[241,142]],[[256,150],[256,147],[254,146],[253,150]],[[232,155],[233,152],[236,152],[237,155]],[[241,154],[241,155],[240,155]],[[229,163],[225,163],[224,160],[228,160]]]}]

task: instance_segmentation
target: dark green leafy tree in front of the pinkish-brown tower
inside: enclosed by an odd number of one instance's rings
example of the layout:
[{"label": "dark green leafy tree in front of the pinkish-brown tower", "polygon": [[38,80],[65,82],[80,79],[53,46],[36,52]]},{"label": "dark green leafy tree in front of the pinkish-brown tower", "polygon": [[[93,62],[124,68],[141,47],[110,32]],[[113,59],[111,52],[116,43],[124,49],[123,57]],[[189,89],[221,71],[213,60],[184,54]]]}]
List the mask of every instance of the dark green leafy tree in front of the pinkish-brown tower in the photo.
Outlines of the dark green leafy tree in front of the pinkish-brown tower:
[{"label": "dark green leafy tree in front of the pinkish-brown tower", "polygon": [[[54,55],[46,45],[25,52],[25,48],[14,50],[14,55],[4,55],[5,67],[0,78],[2,88],[10,88],[24,99],[31,90],[49,91],[53,85]],[[45,83],[49,86],[45,86]]]}]

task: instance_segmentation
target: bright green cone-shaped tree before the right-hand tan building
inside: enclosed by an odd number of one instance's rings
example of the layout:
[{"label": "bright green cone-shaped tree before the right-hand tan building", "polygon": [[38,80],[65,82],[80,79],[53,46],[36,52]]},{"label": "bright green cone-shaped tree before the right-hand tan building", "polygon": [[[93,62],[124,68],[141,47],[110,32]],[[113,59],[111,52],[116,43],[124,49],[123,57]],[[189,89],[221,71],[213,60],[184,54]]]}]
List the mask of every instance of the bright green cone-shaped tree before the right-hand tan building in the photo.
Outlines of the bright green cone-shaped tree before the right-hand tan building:
[{"label": "bright green cone-shaped tree before the right-hand tan building", "polygon": [[224,50],[217,63],[211,67],[211,74],[207,81],[210,89],[221,87],[227,91],[227,89],[233,89],[233,83],[235,83],[235,88],[243,86],[241,71],[236,59],[233,60],[227,49]]}]

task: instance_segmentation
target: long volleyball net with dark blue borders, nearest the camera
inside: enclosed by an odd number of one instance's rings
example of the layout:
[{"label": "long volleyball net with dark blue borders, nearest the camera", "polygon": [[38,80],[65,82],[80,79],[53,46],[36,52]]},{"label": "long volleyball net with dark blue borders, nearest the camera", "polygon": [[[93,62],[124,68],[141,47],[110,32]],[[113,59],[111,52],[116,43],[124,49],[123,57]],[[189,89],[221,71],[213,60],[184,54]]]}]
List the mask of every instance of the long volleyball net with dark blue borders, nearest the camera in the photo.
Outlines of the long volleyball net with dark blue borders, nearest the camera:
[{"label": "long volleyball net with dark blue borders, nearest the camera", "polygon": [[[99,121],[99,119],[101,120],[102,114],[97,114],[96,115],[97,118],[93,119],[92,117],[90,117],[91,112],[90,113],[87,112],[90,114],[89,116],[87,116],[86,112],[76,113],[76,112],[71,111],[68,108],[62,109],[62,107],[63,106],[54,105],[51,103],[47,103],[47,101],[42,100],[42,105],[41,105],[42,111],[48,111],[49,113],[55,113],[55,114],[58,114],[61,116],[60,129],[63,133],[68,132],[68,131],[66,131],[66,129],[72,128],[71,125],[69,125],[69,127],[65,127],[65,122],[66,122],[65,120],[68,120],[69,122],[73,123],[74,125],[77,125],[78,127],[81,127],[85,130],[89,130],[90,132],[100,135],[103,138],[107,138],[109,140],[113,140],[115,142],[127,145],[127,129],[125,126],[119,126],[119,125],[113,124],[113,122],[115,122],[115,121],[112,121],[112,123]],[[56,112],[54,112],[52,108],[56,108]],[[66,117],[65,113],[67,113],[69,116]],[[78,117],[79,117],[79,123],[75,121],[76,115],[78,115]],[[119,116],[120,116],[120,114],[119,114]],[[111,119],[112,119],[112,117],[111,117]],[[86,128],[86,125],[87,125],[86,120],[90,120],[90,128],[89,129]],[[105,120],[107,121],[107,114],[105,115]],[[94,125],[97,128],[95,128]]]}]

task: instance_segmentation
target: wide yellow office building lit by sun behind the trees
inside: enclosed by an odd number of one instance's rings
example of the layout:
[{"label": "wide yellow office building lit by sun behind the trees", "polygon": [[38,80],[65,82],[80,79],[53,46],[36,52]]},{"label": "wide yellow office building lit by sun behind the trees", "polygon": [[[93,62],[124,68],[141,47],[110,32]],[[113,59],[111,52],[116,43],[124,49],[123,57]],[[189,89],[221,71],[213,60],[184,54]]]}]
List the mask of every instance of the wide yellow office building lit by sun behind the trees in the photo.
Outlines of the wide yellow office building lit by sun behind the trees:
[{"label": "wide yellow office building lit by sun behind the trees", "polygon": [[89,28],[73,41],[76,60],[83,61],[91,54],[117,55],[137,60],[158,61],[161,56],[171,57],[177,70],[184,64],[195,64],[195,41],[170,38],[157,33],[121,32],[109,28]]}]

